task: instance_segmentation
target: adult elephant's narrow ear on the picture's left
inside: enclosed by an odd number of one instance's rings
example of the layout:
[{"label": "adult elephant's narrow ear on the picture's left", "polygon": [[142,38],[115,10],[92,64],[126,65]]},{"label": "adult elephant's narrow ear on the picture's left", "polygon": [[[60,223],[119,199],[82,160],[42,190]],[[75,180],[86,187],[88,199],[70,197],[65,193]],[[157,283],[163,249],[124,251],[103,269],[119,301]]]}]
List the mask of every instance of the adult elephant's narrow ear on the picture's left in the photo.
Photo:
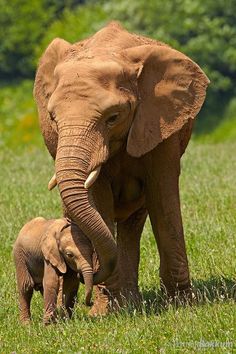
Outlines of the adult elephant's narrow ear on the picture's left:
[{"label": "adult elephant's narrow ear on the picture's left", "polygon": [[63,39],[54,39],[40,59],[34,83],[34,98],[38,107],[40,128],[45,144],[53,158],[56,156],[57,132],[51,124],[47,110],[48,101],[56,88],[54,70],[65,58],[71,44]]}]

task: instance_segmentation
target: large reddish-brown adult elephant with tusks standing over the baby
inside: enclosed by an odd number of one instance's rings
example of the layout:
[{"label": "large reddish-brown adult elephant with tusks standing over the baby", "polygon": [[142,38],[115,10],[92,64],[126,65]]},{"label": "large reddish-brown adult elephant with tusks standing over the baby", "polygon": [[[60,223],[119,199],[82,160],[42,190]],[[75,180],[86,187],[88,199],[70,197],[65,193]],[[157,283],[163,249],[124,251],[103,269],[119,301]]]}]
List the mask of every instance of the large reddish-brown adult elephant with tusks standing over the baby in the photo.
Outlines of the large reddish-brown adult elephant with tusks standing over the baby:
[{"label": "large reddish-brown adult elephant with tusks standing over the baby", "polygon": [[184,54],[114,22],[75,44],[55,39],[41,58],[42,134],[66,213],[93,242],[105,280],[93,314],[120,291],[138,296],[147,214],[168,294],[190,290],[178,179],[208,83]]}]

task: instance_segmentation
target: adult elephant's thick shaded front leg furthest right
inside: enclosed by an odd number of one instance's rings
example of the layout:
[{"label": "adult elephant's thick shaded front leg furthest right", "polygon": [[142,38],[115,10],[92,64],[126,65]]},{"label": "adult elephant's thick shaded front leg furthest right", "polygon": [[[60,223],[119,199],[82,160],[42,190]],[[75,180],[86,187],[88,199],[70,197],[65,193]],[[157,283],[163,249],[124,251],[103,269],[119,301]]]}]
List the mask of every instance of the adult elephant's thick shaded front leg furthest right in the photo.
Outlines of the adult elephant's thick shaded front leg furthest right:
[{"label": "adult elephant's thick shaded front leg furthest right", "polygon": [[160,253],[160,277],[167,294],[191,296],[188,261],[182,226],[178,136],[162,142],[144,157],[146,197],[151,224]]}]

